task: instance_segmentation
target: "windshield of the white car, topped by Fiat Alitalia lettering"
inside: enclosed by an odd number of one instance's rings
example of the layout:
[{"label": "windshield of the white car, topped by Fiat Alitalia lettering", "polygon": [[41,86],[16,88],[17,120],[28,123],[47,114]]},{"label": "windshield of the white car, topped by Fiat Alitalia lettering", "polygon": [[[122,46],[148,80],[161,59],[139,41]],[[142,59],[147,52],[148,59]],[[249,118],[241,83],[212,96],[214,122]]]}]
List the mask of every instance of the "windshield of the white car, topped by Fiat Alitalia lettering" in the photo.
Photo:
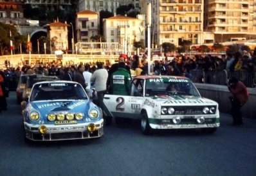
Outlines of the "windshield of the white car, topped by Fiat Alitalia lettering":
[{"label": "windshield of the white car, topped by Fiat Alitalia lettering", "polygon": [[145,96],[152,95],[200,96],[196,87],[189,79],[170,77],[147,79],[145,84]]}]

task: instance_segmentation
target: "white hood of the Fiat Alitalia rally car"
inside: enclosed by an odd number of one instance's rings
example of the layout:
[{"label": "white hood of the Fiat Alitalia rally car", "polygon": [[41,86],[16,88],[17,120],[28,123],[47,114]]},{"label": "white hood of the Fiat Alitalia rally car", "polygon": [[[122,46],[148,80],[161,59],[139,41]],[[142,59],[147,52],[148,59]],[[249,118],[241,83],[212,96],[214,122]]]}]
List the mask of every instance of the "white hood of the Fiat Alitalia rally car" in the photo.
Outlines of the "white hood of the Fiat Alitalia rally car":
[{"label": "white hood of the Fiat Alitalia rally car", "polygon": [[156,96],[152,97],[152,99],[159,104],[163,105],[176,105],[176,106],[184,106],[184,105],[214,105],[217,104],[214,100],[206,99],[203,97],[194,97],[194,96],[185,96],[185,95],[172,95],[172,96]]}]

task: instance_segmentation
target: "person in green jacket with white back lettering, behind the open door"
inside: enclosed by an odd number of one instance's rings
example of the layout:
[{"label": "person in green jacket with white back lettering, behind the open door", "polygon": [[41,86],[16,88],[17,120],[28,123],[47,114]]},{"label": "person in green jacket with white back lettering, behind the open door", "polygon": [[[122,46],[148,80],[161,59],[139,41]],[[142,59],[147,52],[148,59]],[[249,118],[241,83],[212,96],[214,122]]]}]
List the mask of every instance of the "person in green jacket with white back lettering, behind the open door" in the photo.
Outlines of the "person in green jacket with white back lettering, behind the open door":
[{"label": "person in green jacket with white back lettering, behind the open door", "polygon": [[114,95],[130,95],[131,74],[125,68],[125,63],[118,63],[118,70],[111,75],[111,87]]}]

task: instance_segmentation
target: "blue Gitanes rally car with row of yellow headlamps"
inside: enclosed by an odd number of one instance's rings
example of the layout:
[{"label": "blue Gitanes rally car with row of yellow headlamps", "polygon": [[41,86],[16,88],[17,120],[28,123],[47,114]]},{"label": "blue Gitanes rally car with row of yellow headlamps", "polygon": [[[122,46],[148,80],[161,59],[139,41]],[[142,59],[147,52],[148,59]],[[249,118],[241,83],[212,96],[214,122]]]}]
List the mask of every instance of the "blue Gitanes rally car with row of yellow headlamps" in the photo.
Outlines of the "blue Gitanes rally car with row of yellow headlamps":
[{"label": "blue Gitanes rally car with row of yellow headlamps", "polygon": [[79,83],[35,83],[23,111],[24,139],[30,141],[100,138],[102,110],[87,97]]}]

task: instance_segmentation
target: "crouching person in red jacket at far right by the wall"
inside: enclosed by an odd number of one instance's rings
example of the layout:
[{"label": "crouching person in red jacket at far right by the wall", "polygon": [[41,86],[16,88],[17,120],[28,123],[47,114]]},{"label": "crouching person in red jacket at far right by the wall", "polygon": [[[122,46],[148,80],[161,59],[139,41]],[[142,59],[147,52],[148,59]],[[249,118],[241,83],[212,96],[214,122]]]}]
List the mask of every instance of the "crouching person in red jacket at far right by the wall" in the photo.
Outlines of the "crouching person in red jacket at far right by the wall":
[{"label": "crouching person in red jacket at far right by the wall", "polygon": [[244,104],[246,104],[249,93],[241,81],[239,81],[236,77],[232,77],[228,81],[228,90],[232,93],[232,97],[230,97],[232,108],[231,115],[233,117],[233,125],[242,125],[242,114],[240,109]]}]

